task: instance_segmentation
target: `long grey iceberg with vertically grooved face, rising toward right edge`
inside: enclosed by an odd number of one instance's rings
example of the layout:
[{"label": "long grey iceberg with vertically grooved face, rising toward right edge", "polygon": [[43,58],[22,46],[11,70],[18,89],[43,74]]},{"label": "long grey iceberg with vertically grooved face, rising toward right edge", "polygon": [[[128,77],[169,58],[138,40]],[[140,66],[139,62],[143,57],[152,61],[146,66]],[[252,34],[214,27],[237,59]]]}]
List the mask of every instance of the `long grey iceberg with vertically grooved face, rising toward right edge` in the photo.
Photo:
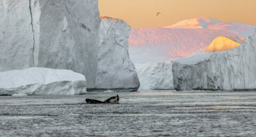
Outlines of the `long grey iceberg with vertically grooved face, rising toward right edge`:
[{"label": "long grey iceberg with vertically grooved face, rising toward right edge", "polygon": [[229,51],[173,62],[177,90],[256,90],[256,35]]}]

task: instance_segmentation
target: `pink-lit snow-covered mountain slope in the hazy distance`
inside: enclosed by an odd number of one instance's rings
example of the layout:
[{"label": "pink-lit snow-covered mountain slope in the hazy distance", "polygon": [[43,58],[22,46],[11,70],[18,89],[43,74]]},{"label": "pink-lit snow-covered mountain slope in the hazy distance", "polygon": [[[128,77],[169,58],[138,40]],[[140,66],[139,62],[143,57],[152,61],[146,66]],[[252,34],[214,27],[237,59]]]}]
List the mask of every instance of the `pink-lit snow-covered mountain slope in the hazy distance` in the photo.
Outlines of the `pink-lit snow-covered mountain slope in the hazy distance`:
[{"label": "pink-lit snow-covered mountain slope in the hazy distance", "polygon": [[130,58],[134,63],[146,63],[187,57],[195,52],[204,52],[213,39],[219,36],[242,44],[255,28],[199,17],[163,28],[132,29],[129,38]]}]

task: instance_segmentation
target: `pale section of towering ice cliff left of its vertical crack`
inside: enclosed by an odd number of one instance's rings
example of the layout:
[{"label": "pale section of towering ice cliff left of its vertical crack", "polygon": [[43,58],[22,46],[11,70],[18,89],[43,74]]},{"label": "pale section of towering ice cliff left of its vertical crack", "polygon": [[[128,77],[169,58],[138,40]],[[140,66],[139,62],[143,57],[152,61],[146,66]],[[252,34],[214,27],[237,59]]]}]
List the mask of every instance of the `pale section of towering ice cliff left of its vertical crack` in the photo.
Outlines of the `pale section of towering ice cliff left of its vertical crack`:
[{"label": "pale section of towering ice cliff left of its vertical crack", "polygon": [[0,1],[0,72],[33,67],[33,46],[29,1]]}]

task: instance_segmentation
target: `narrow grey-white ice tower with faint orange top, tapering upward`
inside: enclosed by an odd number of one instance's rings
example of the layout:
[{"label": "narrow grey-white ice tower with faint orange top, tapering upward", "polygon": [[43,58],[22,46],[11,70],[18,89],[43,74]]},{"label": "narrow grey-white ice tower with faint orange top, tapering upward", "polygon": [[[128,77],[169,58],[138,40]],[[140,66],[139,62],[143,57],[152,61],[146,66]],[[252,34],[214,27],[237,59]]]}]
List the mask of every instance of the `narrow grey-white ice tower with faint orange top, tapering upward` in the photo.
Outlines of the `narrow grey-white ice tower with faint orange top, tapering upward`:
[{"label": "narrow grey-white ice tower with faint orange top, tapering upward", "polygon": [[139,79],[128,53],[130,30],[123,20],[101,18],[96,89],[138,90]]}]

